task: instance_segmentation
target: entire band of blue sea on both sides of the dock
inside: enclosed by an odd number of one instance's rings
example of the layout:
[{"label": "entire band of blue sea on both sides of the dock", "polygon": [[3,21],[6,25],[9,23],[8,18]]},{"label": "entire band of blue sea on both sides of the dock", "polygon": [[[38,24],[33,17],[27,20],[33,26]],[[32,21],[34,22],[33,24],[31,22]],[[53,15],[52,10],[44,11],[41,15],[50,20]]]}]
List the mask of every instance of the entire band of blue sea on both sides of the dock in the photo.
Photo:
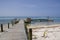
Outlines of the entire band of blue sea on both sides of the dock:
[{"label": "entire band of blue sea on both sides of the dock", "polygon": [[[40,16],[38,16],[38,17],[32,17],[32,16],[29,16],[30,18],[32,18],[32,19],[48,19],[48,17],[40,17]],[[25,18],[27,18],[26,16],[24,16],[24,17],[17,17],[17,16],[11,16],[11,17],[0,17],[0,24],[5,24],[5,23],[10,23],[13,19],[15,19],[15,18],[18,18],[18,19],[25,19]],[[54,22],[51,22],[50,24],[52,24],[52,23],[59,23],[60,24],[60,17],[49,17],[49,19],[52,19],[52,20],[54,20]],[[34,22],[34,23],[41,23],[41,22]],[[43,23],[43,22],[42,22]],[[47,22],[45,22],[45,23],[47,23]]]}]

